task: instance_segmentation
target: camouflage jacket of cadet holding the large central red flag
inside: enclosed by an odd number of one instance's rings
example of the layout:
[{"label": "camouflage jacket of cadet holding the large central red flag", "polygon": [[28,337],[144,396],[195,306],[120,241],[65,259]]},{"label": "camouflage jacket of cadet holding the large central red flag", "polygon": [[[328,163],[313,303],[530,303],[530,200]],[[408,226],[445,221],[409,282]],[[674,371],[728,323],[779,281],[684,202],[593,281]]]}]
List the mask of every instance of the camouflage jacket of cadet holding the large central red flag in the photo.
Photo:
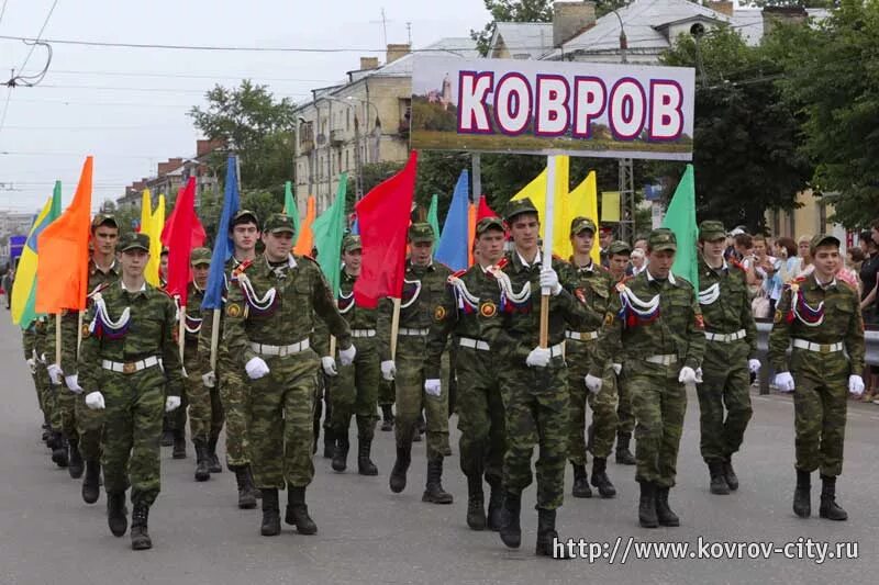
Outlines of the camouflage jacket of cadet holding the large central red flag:
[{"label": "camouflage jacket of cadet holding the large central red flag", "polygon": [[[452,270],[439,262],[431,266],[413,266],[405,262],[403,291],[400,300],[400,327],[427,329],[433,322],[434,308],[441,303],[446,290],[446,280]],[[376,329],[378,331],[381,361],[391,359],[391,318],[393,301],[382,299],[378,305]],[[423,338],[426,339],[426,336]]]}]

